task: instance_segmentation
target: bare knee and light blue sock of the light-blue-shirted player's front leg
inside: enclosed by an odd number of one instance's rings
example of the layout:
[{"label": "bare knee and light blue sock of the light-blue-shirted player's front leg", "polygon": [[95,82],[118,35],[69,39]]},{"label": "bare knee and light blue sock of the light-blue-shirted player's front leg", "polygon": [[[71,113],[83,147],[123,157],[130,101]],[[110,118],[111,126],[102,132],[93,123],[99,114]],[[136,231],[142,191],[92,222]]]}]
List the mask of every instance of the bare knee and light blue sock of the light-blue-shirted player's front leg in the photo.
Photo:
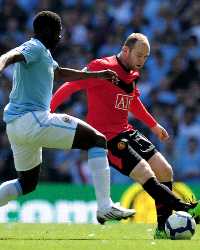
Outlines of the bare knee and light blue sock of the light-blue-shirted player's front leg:
[{"label": "bare knee and light blue sock of the light-blue-shirted player's front leg", "polygon": [[83,122],[77,125],[72,149],[88,150],[88,166],[92,172],[99,210],[107,209],[112,205],[106,147],[105,137],[97,130]]}]

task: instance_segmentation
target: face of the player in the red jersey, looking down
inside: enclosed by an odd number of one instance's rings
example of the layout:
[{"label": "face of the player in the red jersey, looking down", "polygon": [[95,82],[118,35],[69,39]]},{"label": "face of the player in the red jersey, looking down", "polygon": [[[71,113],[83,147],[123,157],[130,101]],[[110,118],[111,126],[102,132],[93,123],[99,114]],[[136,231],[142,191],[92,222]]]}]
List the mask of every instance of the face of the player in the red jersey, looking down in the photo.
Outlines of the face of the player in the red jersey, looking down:
[{"label": "face of the player in the red jersey, looking down", "polygon": [[149,56],[149,46],[146,43],[137,41],[132,49],[127,48],[126,62],[130,70],[140,70],[148,56]]}]

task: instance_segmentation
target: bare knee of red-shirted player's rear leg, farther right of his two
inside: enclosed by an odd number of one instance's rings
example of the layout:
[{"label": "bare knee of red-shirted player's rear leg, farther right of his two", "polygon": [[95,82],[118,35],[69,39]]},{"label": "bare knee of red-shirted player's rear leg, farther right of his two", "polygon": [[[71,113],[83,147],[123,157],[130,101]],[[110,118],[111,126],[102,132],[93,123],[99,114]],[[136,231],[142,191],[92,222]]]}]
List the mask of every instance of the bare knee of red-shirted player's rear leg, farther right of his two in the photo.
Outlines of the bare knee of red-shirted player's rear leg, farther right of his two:
[{"label": "bare knee of red-shirted player's rear leg, farther right of his two", "polygon": [[173,171],[169,162],[160,153],[155,153],[149,160],[149,165],[160,182],[172,181]]}]

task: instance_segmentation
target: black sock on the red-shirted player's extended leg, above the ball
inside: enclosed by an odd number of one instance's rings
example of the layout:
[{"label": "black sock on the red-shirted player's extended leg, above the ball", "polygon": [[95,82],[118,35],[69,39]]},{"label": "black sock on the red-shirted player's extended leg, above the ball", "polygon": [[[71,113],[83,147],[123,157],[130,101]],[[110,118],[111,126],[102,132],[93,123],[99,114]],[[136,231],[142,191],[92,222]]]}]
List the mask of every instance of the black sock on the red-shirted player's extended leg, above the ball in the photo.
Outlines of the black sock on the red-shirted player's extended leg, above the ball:
[{"label": "black sock on the red-shirted player's extended leg, above the ball", "polygon": [[181,201],[167,186],[152,177],[143,185],[144,190],[158,203],[164,204],[171,210],[188,211],[188,204]]}]

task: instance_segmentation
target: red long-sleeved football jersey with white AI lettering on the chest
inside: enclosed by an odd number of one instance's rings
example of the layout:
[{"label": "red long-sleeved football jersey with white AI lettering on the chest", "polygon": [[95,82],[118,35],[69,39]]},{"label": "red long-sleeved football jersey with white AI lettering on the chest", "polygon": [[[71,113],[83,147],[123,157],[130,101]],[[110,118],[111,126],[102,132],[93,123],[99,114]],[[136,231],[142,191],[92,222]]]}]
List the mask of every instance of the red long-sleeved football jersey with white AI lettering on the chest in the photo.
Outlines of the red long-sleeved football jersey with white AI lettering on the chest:
[{"label": "red long-sleeved football jersey with white AI lettering on the chest", "polygon": [[103,133],[109,140],[122,131],[132,129],[128,124],[128,111],[147,126],[156,125],[141,100],[136,85],[138,71],[128,71],[116,56],[96,59],[87,65],[89,71],[111,69],[120,79],[116,86],[102,79],[79,80],[63,84],[54,94],[51,111],[54,111],[72,93],[86,90],[88,100],[87,122]]}]

